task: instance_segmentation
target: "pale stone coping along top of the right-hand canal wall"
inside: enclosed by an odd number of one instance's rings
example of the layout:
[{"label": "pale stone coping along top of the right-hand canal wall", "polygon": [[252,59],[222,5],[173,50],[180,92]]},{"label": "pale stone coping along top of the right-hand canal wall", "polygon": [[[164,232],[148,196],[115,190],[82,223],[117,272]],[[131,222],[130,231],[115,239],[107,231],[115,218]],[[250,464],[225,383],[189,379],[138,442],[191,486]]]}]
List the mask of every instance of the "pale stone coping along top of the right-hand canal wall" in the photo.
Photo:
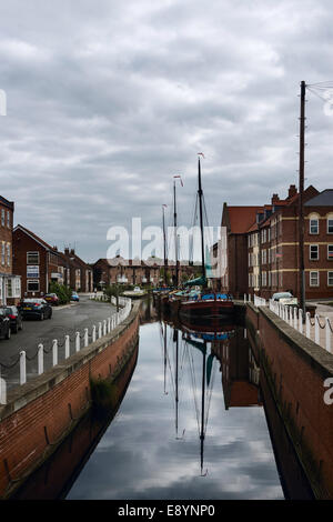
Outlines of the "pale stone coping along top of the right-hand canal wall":
[{"label": "pale stone coping along top of the right-hand canal wall", "polygon": [[254,307],[248,303],[254,312],[264,315],[270,324],[279,332],[284,341],[294,349],[309,364],[311,364],[323,379],[333,375],[333,354],[324,348],[297,332],[293,327],[279,318],[265,307]]}]

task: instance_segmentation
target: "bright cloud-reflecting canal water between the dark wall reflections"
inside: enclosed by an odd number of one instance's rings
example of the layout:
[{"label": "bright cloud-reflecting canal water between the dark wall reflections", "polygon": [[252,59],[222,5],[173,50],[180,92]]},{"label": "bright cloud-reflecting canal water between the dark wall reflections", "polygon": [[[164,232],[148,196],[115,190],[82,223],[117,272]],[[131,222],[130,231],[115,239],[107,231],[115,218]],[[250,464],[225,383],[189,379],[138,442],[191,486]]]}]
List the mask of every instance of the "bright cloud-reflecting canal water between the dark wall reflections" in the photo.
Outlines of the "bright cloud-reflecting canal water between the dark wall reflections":
[{"label": "bright cloud-reflecting canal water between the dark wall reflections", "polygon": [[190,337],[141,325],[127,394],[67,499],[284,499],[244,330],[205,355]]}]

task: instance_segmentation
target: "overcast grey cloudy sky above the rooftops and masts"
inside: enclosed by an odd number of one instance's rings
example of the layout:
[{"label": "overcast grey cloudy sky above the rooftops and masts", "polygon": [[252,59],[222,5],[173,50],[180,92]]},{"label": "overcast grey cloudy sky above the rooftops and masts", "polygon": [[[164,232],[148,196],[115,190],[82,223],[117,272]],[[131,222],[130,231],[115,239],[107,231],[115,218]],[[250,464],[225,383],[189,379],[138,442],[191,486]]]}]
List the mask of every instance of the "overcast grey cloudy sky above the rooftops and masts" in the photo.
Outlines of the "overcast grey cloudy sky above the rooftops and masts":
[{"label": "overcast grey cloudy sky above the rooftops and masts", "polygon": [[[161,224],[178,173],[179,221],[192,223],[201,151],[211,225],[224,201],[285,197],[300,81],[333,80],[332,28],[329,0],[0,0],[0,193],[14,222],[95,261],[110,227]],[[319,190],[332,188],[324,108],[307,93]]]}]

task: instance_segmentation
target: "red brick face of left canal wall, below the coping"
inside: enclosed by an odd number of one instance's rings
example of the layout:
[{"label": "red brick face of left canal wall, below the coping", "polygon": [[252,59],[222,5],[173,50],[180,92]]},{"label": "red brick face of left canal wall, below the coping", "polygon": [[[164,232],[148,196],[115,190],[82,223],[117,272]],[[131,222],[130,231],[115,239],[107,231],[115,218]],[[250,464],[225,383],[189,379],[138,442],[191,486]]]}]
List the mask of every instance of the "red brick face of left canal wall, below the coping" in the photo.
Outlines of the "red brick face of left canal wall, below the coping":
[{"label": "red brick face of left canal wall, below the coping", "polygon": [[118,359],[138,339],[138,328],[139,315],[114,342],[93,359],[80,365],[51,390],[1,421],[0,496],[6,495],[10,479],[19,479],[31,470],[51,450],[50,445],[57,445],[71,428],[70,408],[74,419],[87,410],[90,403],[90,377],[95,379],[110,377],[110,371],[113,372]]}]

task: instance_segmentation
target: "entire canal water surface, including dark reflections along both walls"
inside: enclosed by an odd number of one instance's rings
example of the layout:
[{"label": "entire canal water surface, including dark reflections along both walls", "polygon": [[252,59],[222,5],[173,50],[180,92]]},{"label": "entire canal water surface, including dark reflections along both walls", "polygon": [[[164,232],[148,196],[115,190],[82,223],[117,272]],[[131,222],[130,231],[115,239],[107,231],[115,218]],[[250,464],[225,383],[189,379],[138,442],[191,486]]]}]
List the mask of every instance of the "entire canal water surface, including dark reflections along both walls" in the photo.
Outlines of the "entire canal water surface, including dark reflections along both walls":
[{"label": "entire canal water surface, including dark reflections along both walls", "polygon": [[85,418],[17,498],[311,498],[262,378],[242,325],[154,318],[114,411]]}]

